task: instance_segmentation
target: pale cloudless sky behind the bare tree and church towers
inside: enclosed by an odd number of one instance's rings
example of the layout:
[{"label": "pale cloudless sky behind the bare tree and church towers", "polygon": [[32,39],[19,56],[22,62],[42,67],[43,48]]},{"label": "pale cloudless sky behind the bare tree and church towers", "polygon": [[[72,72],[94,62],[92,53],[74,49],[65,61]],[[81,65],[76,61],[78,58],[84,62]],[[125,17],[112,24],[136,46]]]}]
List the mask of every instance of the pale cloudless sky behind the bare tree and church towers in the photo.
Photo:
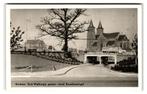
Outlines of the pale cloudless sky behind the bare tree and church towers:
[{"label": "pale cloudless sky behind the bare tree and church towers", "polygon": [[[20,26],[25,32],[24,42],[28,39],[41,39],[47,45],[52,45],[60,50],[59,39],[51,36],[39,38],[41,31],[36,25],[41,24],[41,18],[49,16],[46,9],[11,9],[11,22],[13,27]],[[85,15],[78,18],[80,21],[93,21],[95,28],[101,21],[105,33],[120,32],[126,34],[131,41],[137,33],[137,9],[136,8],[95,8],[87,9]],[[86,38],[87,32],[78,34],[79,38]],[[69,42],[70,48],[86,49],[86,40],[72,40]]]}]

